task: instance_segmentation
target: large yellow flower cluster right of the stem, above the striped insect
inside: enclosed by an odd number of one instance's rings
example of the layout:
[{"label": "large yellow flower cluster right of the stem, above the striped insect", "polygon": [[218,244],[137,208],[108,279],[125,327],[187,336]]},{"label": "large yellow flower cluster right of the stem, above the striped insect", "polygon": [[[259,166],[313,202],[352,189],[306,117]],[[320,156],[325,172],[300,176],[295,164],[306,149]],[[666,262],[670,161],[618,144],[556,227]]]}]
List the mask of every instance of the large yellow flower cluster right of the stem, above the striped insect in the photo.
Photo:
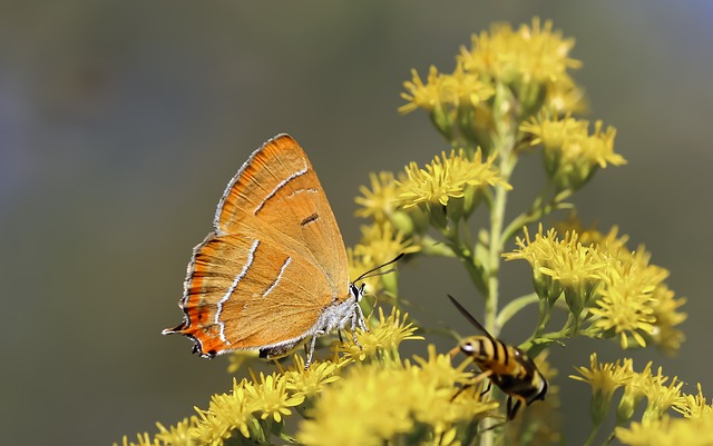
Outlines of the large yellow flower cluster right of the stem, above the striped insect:
[{"label": "large yellow flower cluster right of the stem, above the striped insect", "polygon": [[[668,271],[649,264],[651,255],[643,247],[626,249],[626,237],[586,236],[599,240],[585,246],[572,231],[563,240],[554,229],[543,234],[540,226],[533,240],[525,229],[518,238],[518,249],[506,259],[525,259],[533,267],[540,299],[550,306],[561,291],[570,313],[589,321],[589,336],[618,336],[623,348],[633,339],[645,347],[647,340],[667,354],[675,353],[683,334],[675,328],[685,320],[677,311],[685,299],[676,299],[664,280]],[[614,237],[614,238],[613,238]]]}]

